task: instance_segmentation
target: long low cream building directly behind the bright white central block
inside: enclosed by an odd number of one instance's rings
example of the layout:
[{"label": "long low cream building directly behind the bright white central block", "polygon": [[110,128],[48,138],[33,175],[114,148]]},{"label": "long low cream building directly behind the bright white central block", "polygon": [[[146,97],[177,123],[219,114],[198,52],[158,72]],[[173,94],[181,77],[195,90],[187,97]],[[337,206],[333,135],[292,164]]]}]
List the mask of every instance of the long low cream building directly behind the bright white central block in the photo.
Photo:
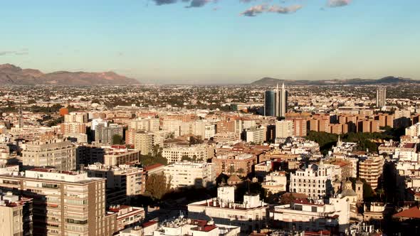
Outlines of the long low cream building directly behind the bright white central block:
[{"label": "long low cream building directly behind the bright white central block", "polygon": [[192,146],[170,146],[162,150],[162,156],[168,163],[182,161],[182,156],[190,159],[206,161],[214,156],[214,148],[207,144],[196,144]]}]

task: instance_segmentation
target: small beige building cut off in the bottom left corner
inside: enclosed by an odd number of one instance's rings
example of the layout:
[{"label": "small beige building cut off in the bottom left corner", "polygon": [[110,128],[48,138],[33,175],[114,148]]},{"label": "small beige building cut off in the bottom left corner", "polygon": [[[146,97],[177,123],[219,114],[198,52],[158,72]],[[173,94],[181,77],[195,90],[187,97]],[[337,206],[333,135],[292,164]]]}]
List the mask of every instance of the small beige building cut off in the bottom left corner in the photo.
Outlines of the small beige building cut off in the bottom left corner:
[{"label": "small beige building cut off in the bottom left corner", "polygon": [[33,235],[33,200],[11,192],[0,195],[0,235]]}]

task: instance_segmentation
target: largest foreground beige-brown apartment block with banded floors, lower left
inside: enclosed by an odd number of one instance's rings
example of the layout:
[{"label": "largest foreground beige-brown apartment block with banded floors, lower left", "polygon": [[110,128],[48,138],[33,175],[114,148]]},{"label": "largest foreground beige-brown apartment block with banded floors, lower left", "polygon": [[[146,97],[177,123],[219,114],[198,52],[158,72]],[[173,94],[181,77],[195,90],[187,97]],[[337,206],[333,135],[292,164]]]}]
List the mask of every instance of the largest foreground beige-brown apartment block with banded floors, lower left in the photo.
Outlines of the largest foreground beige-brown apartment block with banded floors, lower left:
[{"label": "largest foreground beige-brown apartment block with banded floors, lower left", "polygon": [[116,215],[105,213],[105,179],[80,171],[35,168],[0,175],[0,188],[33,198],[33,235],[112,235]]}]

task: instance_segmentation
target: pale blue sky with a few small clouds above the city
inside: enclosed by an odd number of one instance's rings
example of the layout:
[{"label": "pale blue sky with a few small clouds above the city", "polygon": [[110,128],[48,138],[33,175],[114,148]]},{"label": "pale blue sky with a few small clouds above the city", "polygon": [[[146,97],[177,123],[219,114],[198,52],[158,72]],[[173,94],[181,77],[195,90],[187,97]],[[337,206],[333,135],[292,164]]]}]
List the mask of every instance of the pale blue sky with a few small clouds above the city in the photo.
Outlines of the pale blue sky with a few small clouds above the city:
[{"label": "pale blue sky with a few small clouds above the city", "polygon": [[420,80],[419,0],[20,0],[0,64],[144,83]]}]

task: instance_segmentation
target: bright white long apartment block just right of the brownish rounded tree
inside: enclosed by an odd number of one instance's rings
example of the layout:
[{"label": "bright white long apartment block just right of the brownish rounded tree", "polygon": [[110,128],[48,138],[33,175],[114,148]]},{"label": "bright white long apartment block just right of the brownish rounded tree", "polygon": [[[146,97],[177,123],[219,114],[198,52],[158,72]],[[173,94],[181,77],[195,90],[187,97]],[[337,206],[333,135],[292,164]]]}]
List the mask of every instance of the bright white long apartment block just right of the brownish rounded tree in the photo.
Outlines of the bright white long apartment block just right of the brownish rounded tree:
[{"label": "bright white long apartment block just right of the brownish rounded tree", "polygon": [[216,181],[214,163],[182,161],[164,167],[171,188],[209,187]]}]

